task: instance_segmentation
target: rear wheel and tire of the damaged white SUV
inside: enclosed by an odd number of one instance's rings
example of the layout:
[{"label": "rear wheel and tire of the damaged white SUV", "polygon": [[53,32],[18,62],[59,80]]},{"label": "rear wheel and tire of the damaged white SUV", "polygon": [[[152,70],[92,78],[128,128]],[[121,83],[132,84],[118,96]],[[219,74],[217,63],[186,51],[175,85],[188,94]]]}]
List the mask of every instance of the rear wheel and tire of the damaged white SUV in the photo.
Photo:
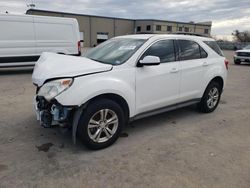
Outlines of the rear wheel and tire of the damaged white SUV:
[{"label": "rear wheel and tire of the damaged white SUV", "polygon": [[207,86],[200,103],[198,103],[199,110],[203,113],[213,112],[220,102],[221,91],[221,85],[212,81]]}]

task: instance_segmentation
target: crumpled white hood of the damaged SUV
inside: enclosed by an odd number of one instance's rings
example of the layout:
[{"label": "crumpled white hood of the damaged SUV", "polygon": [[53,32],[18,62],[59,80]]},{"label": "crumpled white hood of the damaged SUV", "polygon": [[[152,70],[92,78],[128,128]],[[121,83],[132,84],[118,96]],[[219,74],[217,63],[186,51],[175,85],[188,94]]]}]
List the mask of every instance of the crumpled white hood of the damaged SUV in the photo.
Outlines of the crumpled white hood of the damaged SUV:
[{"label": "crumpled white hood of the damaged SUV", "polygon": [[99,63],[85,57],[43,53],[36,62],[32,81],[41,86],[48,79],[75,77],[109,71],[112,65]]}]

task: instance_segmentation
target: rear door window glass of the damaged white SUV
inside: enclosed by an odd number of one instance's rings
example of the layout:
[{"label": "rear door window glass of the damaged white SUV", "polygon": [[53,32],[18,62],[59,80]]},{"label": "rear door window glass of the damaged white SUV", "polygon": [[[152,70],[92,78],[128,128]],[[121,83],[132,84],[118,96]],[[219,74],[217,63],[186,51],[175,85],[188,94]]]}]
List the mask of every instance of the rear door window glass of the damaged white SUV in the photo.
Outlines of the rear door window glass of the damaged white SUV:
[{"label": "rear door window glass of the damaged white SUV", "polygon": [[180,46],[180,60],[191,60],[191,59],[200,59],[201,52],[200,46],[189,40],[179,40]]}]

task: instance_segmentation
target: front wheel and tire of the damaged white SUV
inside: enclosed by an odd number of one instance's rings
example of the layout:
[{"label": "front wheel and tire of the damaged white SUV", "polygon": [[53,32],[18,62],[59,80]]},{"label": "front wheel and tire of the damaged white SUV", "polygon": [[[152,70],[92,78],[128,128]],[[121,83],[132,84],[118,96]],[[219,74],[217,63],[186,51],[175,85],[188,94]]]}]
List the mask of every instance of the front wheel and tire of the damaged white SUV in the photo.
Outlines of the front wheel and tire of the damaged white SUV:
[{"label": "front wheel and tire of the damaged white SUV", "polygon": [[87,148],[103,149],[119,138],[124,125],[125,116],[120,105],[109,99],[98,99],[83,111],[77,136]]}]

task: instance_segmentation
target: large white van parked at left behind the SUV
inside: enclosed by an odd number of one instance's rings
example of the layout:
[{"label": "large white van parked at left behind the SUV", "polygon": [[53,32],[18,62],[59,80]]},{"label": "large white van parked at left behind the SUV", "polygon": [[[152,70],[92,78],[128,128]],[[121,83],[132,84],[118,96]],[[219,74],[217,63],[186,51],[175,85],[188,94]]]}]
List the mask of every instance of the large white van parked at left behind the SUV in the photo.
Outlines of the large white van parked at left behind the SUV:
[{"label": "large white van parked at left behind the SUV", "polygon": [[32,66],[42,52],[80,55],[77,20],[0,15],[0,67]]}]

